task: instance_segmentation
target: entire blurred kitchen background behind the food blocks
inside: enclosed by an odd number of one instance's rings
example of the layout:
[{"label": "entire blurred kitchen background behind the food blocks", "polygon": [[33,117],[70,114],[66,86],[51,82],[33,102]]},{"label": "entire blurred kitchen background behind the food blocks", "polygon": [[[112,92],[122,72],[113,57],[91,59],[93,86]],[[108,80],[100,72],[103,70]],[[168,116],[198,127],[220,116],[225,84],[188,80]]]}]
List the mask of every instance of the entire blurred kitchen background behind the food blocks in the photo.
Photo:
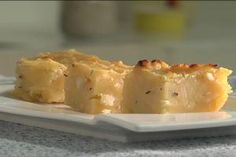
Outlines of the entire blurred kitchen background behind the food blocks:
[{"label": "entire blurred kitchen background behind the food blocks", "polygon": [[234,1],[0,1],[0,74],[13,76],[20,57],[70,48],[236,71],[235,15]]}]

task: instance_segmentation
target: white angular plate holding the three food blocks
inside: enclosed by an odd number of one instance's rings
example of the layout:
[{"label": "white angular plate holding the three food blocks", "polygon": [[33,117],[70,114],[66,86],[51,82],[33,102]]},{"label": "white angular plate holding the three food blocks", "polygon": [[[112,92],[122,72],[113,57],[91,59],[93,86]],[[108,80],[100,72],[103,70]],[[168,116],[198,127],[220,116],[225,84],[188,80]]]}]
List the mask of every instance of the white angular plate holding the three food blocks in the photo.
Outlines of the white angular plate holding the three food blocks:
[{"label": "white angular plate holding the three food blocks", "polygon": [[101,114],[71,111],[63,104],[36,104],[10,97],[11,81],[0,82],[0,119],[115,140],[144,141],[235,134],[236,98],[215,113]]}]

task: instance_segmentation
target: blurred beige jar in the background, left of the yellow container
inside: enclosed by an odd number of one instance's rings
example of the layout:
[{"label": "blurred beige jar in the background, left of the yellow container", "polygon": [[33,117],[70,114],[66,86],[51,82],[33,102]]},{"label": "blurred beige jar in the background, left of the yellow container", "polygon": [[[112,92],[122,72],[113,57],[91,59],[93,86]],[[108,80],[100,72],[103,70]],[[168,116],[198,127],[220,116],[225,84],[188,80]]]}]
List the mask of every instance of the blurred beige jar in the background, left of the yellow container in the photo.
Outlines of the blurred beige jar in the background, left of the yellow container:
[{"label": "blurred beige jar in the background, left of the yellow container", "polygon": [[118,11],[114,1],[64,1],[62,31],[73,37],[98,37],[116,31]]}]

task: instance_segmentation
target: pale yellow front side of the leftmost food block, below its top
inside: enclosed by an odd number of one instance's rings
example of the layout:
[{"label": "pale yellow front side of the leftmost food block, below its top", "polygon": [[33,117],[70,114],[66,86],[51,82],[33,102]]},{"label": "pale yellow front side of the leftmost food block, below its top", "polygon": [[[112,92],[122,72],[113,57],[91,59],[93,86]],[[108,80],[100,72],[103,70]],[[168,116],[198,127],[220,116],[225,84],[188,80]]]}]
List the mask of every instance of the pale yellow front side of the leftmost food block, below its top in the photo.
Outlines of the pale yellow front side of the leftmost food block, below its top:
[{"label": "pale yellow front side of the leftmost food block, below its top", "polygon": [[63,102],[66,66],[51,59],[21,59],[16,67],[14,95],[34,102]]}]

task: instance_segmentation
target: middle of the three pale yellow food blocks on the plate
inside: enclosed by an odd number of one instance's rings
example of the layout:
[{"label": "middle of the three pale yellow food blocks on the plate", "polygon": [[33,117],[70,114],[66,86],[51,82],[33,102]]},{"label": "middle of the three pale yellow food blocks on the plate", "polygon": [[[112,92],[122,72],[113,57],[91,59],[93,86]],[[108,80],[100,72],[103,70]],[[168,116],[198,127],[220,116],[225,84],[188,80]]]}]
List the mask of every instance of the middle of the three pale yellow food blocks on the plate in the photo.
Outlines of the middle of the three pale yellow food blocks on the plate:
[{"label": "middle of the three pale yellow food blocks on the plate", "polygon": [[65,104],[90,114],[121,112],[124,78],[130,69],[122,62],[72,64],[65,79]]}]

